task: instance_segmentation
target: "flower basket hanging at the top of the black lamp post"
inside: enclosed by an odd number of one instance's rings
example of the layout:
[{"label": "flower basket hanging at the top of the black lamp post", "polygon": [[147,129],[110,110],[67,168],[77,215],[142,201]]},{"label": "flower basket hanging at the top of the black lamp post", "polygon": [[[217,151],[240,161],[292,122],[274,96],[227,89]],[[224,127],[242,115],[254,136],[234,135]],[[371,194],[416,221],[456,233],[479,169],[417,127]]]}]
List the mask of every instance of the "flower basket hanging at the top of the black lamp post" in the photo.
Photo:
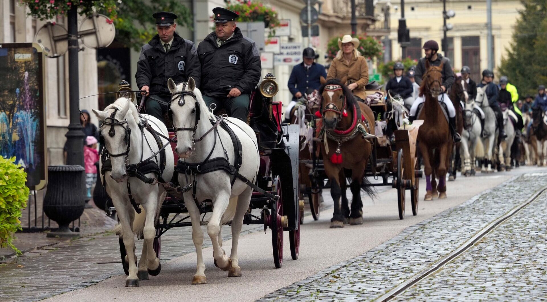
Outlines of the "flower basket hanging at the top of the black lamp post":
[{"label": "flower basket hanging at the top of the black lamp post", "polygon": [[97,11],[110,19],[115,19],[116,5],[121,3],[121,0],[20,0],[20,3],[28,7],[29,15],[40,20],[66,16],[72,7],[78,7],[80,15],[90,16]]}]

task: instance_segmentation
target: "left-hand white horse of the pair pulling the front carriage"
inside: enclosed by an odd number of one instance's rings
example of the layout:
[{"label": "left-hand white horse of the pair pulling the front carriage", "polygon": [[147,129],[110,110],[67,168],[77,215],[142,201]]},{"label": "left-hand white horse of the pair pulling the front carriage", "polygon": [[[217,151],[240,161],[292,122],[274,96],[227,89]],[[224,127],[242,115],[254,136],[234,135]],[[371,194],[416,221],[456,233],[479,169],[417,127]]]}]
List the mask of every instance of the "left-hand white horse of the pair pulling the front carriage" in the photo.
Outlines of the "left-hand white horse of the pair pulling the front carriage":
[{"label": "left-hand white horse of the pair pulling the front carriage", "polygon": [[[154,251],[154,237],[156,234],[155,220],[158,218],[161,204],[166,192],[156,183],[145,183],[137,177],[127,175],[127,166],[150,159],[160,165],[158,151],[161,147],[156,143],[152,132],[139,128],[144,120],[139,116],[137,109],[130,99],[119,98],[107,106],[104,111],[93,110],[102,122],[100,132],[104,138],[103,152],[107,152],[112,162],[112,171],[104,173],[103,185],[118,213],[120,224],[115,229],[124,241],[127,251],[126,262],[129,264],[129,276],[125,286],[138,286],[138,280],[147,280],[148,274],[156,276],[160,273],[161,264]],[[153,116],[146,116],[147,124],[153,131],[168,137],[164,123]],[[161,144],[168,144],[167,139],[161,138]],[[168,148],[168,146],[167,146]],[[161,177],[170,181],[174,170],[173,152],[165,152],[165,169],[161,175],[155,173],[144,174],[150,179]],[[103,163],[101,162],[101,168]],[[106,183],[105,183],[106,182]],[[129,198],[129,188],[136,204],[142,205],[142,212],[136,214]],[[135,234],[143,234],[144,244],[141,259],[136,265]]]}]

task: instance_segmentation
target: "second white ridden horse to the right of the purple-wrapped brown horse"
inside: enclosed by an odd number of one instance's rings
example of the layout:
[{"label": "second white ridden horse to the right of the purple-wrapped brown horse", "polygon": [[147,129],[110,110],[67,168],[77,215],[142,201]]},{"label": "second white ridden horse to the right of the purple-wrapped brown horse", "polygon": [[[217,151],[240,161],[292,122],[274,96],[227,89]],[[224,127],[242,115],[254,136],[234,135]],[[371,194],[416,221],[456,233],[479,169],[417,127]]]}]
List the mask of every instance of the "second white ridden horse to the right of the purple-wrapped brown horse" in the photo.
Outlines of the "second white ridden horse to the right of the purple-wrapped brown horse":
[{"label": "second white ridden horse to the right of the purple-wrapped brown horse", "polygon": [[485,91],[478,87],[477,88],[477,96],[475,98],[475,103],[479,105],[479,107],[484,111],[485,115],[485,121],[484,121],[484,129],[488,133],[488,136],[485,138],[481,138],[482,145],[485,148],[485,160],[482,161],[482,172],[491,173],[492,170],[492,158],[494,153],[494,146],[496,146],[496,141],[498,138],[498,130],[496,127],[496,114],[494,113],[494,110],[490,107],[490,104],[488,103],[488,97],[486,96]]}]

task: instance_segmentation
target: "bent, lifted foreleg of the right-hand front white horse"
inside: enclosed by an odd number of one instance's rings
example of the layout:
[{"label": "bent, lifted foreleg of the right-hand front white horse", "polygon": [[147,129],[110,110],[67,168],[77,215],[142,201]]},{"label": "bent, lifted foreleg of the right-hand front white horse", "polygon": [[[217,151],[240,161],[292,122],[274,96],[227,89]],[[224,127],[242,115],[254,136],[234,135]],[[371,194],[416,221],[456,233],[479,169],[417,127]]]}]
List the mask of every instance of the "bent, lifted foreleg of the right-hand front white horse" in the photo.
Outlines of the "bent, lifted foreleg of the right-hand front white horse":
[{"label": "bent, lifted foreleg of the right-hand front white horse", "polygon": [[220,232],[220,220],[222,215],[228,208],[230,194],[227,192],[219,192],[213,200],[213,215],[207,224],[207,234],[211,238],[213,244],[213,258],[216,260],[216,265],[222,270],[228,270],[231,267],[230,257],[226,256],[224,250],[218,244],[218,233]]}]

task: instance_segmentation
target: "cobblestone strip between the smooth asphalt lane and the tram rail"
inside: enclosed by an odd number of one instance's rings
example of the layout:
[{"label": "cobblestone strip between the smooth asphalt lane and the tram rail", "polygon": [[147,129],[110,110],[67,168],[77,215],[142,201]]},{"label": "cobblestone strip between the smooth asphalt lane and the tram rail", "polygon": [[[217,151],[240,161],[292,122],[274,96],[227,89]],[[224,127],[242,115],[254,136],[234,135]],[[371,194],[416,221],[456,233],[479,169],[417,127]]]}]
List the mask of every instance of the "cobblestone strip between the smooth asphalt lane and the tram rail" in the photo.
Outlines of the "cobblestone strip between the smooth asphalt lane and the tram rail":
[{"label": "cobblestone strip between the smooth asphalt lane and the tram rail", "polygon": [[[547,183],[546,181],[547,173],[517,176],[455,208],[406,228],[391,240],[359,257],[281,288],[260,301],[378,298],[455,250],[488,223],[524,202],[533,194],[529,189],[531,183]],[[534,232],[537,233],[538,230]],[[545,249],[545,244],[543,248]],[[518,256],[515,254],[514,257],[516,260]],[[520,261],[524,259],[514,264]],[[519,285],[521,283],[524,282],[519,281]]]}]

